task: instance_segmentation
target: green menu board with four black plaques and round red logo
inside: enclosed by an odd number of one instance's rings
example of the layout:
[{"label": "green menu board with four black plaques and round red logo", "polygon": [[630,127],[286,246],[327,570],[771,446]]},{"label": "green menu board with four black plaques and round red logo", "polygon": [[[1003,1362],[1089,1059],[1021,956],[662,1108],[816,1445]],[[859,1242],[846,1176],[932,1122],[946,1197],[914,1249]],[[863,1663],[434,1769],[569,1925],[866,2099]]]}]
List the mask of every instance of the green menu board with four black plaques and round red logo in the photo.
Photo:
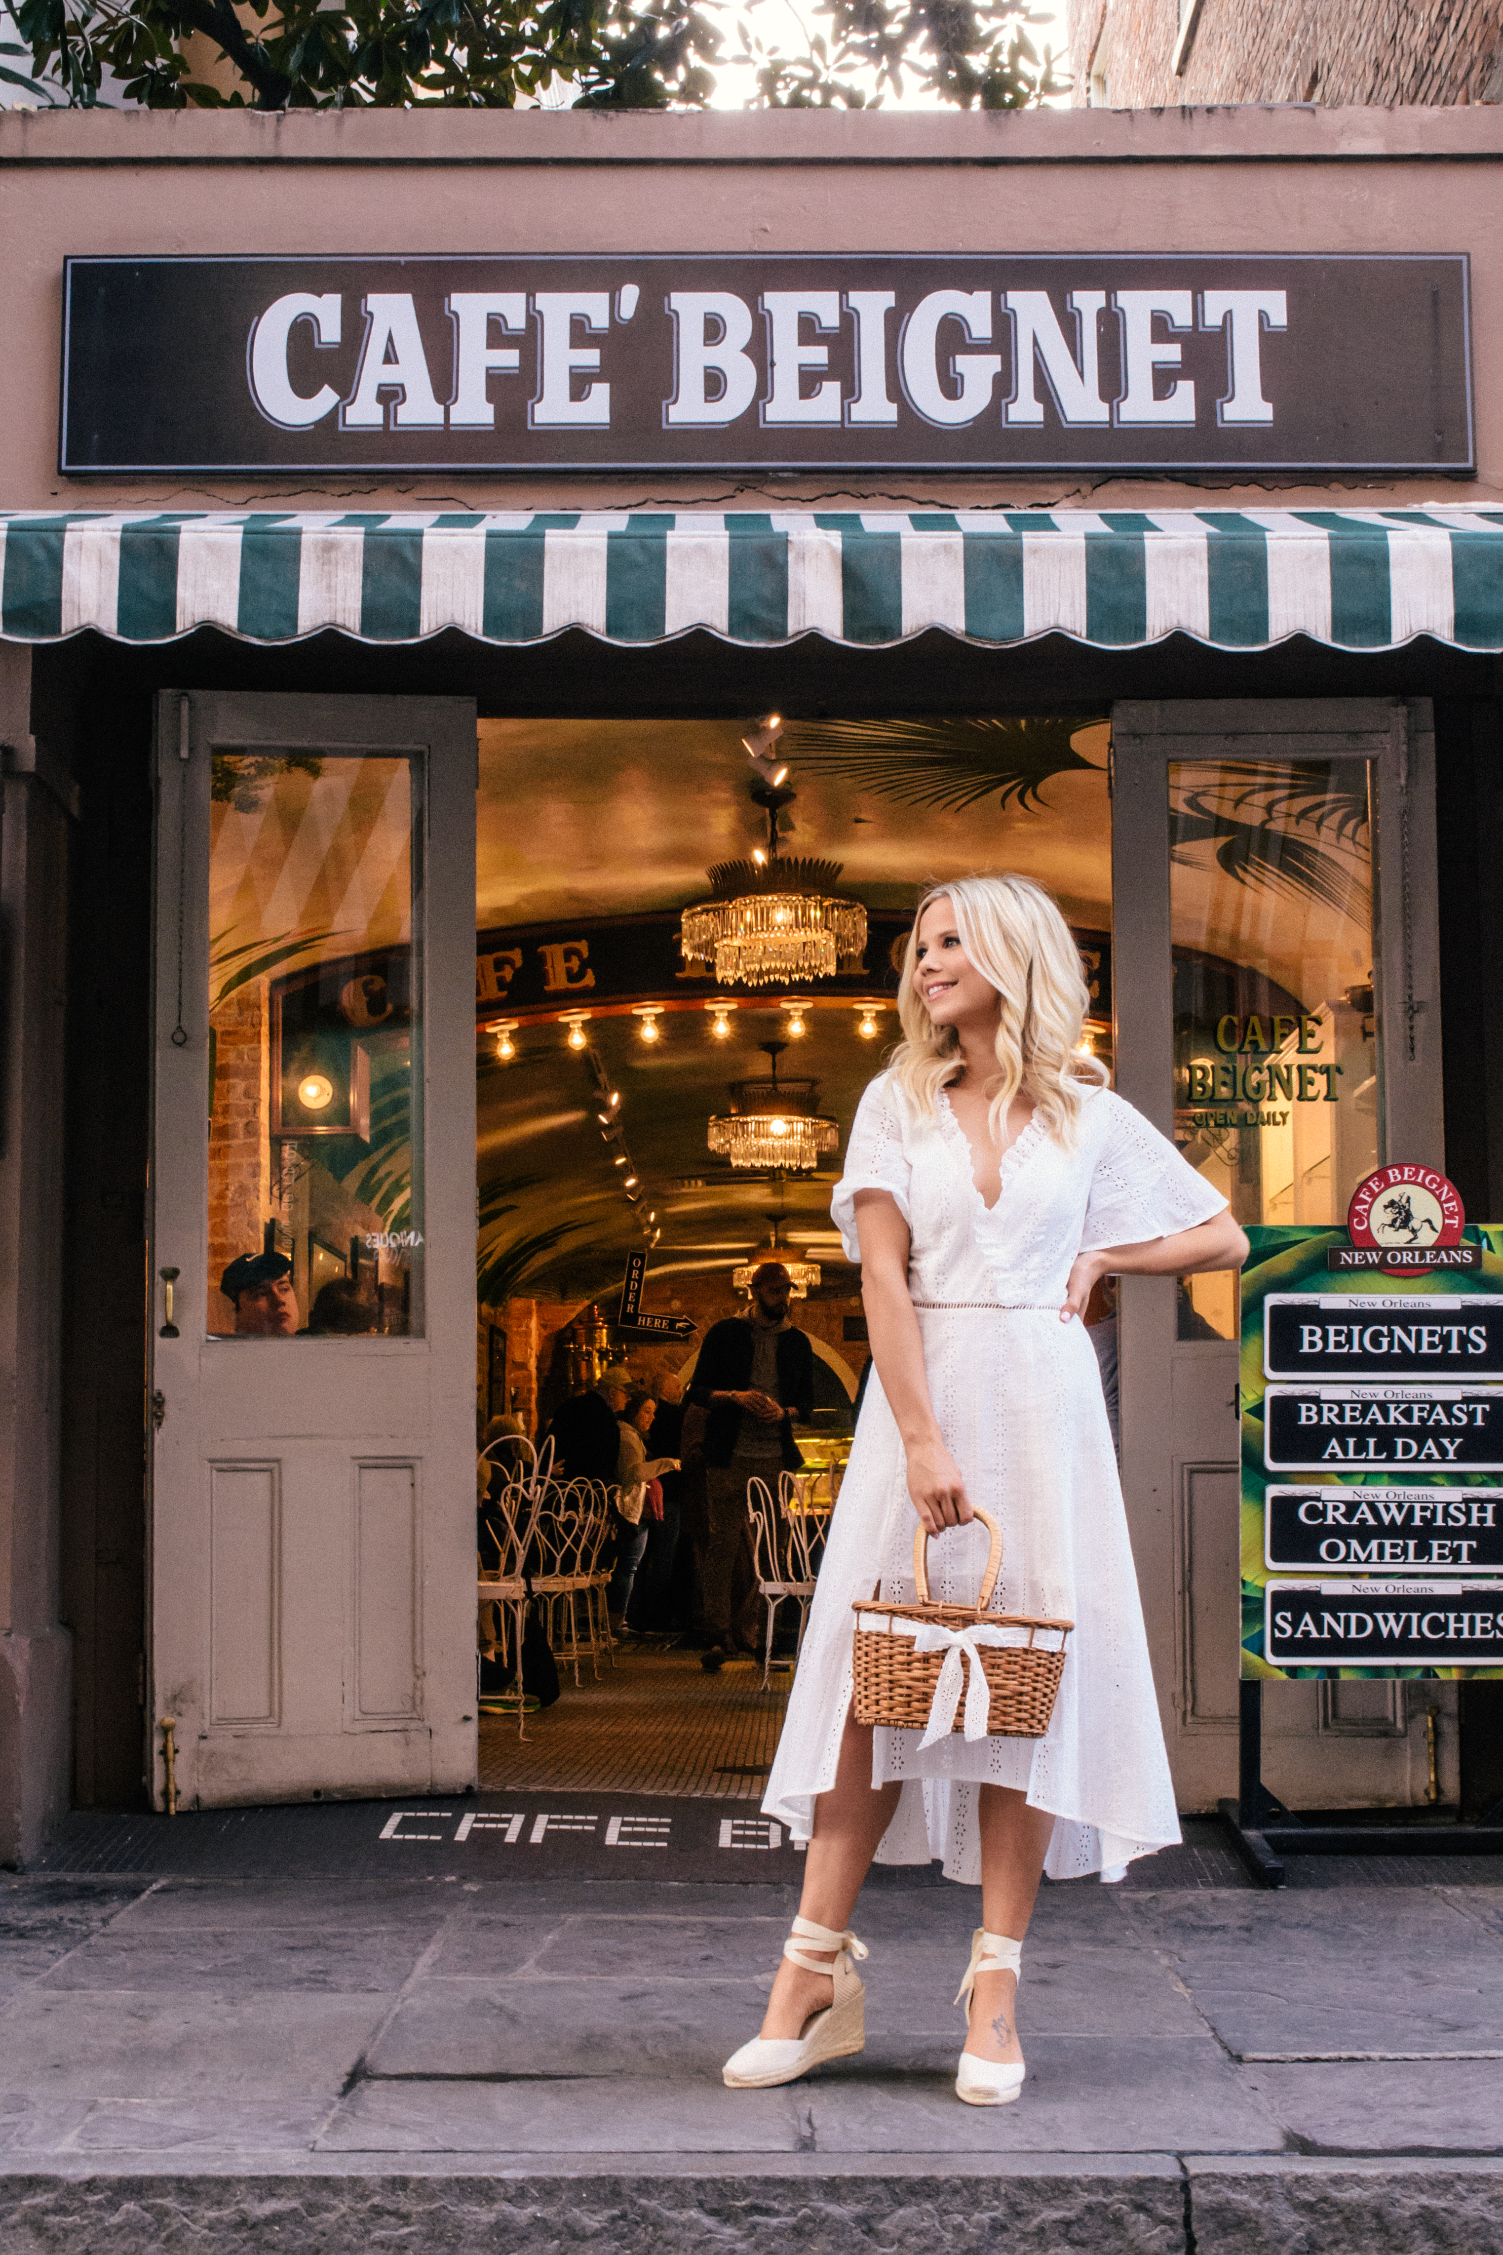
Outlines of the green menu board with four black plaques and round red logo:
[{"label": "green menu board with four black plaques and round red logo", "polygon": [[1503,1675],[1503,1224],[1424,1170],[1393,1245],[1375,1182],[1350,1229],[1248,1229],[1244,1678]]}]

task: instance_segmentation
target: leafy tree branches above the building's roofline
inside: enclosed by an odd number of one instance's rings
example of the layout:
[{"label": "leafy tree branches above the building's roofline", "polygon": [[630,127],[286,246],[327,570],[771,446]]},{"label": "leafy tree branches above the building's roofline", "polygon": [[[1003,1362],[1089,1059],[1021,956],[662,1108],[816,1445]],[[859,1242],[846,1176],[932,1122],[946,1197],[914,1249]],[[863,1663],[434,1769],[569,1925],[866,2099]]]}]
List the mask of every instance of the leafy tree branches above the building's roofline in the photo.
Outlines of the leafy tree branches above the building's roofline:
[{"label": "leafy tree branches above the building's roofline", "polygon": [[[748,0],[728,43],[694,0],[14,0],[32,77],[56,106],[104,88],[146,108],[705,108],[717,74],[753,70],[753,108],[874,108],[888,95],[1023,108],[1059,92],[1028,38],[1028,0],[820,0],[804,45],[764,41]],[[207,41],[230,90],[194,77]]]}]

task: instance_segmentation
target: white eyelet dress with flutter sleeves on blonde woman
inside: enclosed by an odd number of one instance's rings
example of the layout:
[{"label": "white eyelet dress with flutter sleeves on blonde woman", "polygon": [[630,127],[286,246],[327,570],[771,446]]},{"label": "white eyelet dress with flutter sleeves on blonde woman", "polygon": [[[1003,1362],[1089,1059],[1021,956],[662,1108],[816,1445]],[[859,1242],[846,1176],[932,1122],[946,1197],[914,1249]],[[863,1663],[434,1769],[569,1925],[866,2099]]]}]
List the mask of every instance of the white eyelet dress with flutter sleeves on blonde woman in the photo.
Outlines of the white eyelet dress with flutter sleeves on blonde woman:
[{"label": "white eyelet dress with flutter sleeves on blonde woman", "polygon": [[[994,1608],[1075,1621],[1043,1739],[958,1732],[919,1752],[919,1730],[872,1732],[872,1786],[904,1781],[879,1863],[942,1858],[949,1878],[980,1881],[976,1788],[1014,1786],[1052,1809],[1050,1878],[1109,1872],[1179,1840],[1118,1461],[1091,1337],[1059,1321],[1077,1252],[1140,1245],[1226,1206],[1131,1105],[1086,1096],[1075,1150],[1034,1118],[1003,1155],[987,1209],[971,1148],[949,1100],[919,1121],[890,1073],[861,1098],[831,1213],[845,1254],[856,1191],[890,1191],[910,1231],[908,1290],[919,1310],[928,1391],[971,1502],[1003,1527]],[[872,1371],[777,1759],[762,1802],[795,1840],[836,1781],[852,1696],[852,1601],[910,1601],[915,1513],[904,1445]],[[982,1527],[928,1551],[931,1592],[973,1606],[987,1556]]]}]

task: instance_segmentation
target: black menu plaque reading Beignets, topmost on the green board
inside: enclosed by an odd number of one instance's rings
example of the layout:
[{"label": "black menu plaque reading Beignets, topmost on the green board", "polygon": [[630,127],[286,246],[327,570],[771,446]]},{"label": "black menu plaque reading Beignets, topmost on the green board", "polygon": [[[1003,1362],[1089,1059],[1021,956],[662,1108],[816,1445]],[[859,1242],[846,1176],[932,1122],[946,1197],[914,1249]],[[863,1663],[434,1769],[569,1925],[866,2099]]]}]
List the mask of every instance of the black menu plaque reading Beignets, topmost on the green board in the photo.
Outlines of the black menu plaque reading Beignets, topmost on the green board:
[{"label": "black menu plaque reading Beignets, topmost on the green board", "polygon": [[1503,1297],[1269,1292],[1266,1378],[1503,1380]]}]

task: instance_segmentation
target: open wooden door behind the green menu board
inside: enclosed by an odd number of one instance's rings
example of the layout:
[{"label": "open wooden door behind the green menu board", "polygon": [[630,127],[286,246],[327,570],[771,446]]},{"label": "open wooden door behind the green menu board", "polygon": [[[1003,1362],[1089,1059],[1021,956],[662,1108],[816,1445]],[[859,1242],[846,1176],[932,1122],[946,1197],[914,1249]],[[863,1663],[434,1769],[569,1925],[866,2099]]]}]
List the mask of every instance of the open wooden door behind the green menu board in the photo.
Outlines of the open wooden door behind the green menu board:
[{"label": "open wooden door behind the green menu board", "polygon": [[[1444,1166],[1429,704],[1120,704],[1111,735],[1122,1096],[1192,1164],[1221,1166],[1239,1220],[1341,1222],[1368,1166]],[[1332,1067],[1307,1082],[1320,1100],[1293,1107],[1287,1132],[1230,1134],[1210,1152],[1194,1128],[1190,1051],[1210,1028],[1215,1055],[1221,1017],[1246,1028],[1296,990],[1320,1026],[1311,1055]],[[1271,1040],[1266,1026],[1257,1037]],[[1237,1069],[1230,1051],[1233,1082]],[[1122,1281],[1122,1486],[1188,1811],[1237,1790],[1230,1283]],[[1269,1684],[1264,1777],[1296,1809],[1420,1802],[1424,1714],[1447,1703],[1444,1684]],[[1453,1750],[1456,1734],[1442,1745]]]}]

